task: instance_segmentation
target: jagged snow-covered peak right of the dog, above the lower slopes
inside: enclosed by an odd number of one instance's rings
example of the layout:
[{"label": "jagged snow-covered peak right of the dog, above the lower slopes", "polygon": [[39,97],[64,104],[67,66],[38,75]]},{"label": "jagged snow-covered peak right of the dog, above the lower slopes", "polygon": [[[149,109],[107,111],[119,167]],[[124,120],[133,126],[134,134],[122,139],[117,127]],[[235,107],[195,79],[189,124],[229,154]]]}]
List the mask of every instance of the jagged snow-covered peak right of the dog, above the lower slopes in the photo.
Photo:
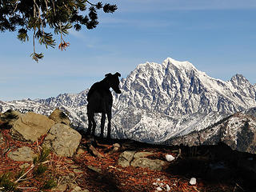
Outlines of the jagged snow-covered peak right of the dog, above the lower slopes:
[{"label": "jagged snow-covered peak right of the dog, above the lower slopes", "polygon": [[212,111],[235,113],[256,106],[255,87],[237,74],[224,82],[210,78],[190,62],[167,58],[162,65],[140,64],[123,81],[118,110],[136,106],[168,115]]}]

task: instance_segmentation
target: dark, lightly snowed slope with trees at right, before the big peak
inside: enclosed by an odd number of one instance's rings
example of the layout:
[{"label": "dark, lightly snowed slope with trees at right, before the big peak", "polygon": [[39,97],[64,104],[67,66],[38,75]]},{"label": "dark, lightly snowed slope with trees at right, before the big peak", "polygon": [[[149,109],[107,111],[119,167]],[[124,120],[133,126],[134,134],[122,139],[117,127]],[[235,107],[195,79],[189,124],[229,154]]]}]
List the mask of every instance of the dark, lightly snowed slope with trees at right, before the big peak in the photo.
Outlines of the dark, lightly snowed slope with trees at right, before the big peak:
[{"label": "dark, lightly snowed slope with trees at right, before the big peak", "polygon": [[224,142],[233,150],[256,153],[256,108],[243,110],[223,118],[206,129],[192,131],[190,134],[170,138],[165,144],[172,145],[217,145]]}]

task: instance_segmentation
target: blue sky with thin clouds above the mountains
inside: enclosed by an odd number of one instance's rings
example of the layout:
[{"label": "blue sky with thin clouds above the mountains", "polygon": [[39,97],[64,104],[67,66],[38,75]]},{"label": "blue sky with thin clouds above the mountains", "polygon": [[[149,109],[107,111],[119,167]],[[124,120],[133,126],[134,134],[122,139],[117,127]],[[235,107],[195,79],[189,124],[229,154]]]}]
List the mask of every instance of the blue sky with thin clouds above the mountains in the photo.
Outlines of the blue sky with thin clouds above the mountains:
[{"label": "blue sky with thin clouds above the mountains", "polygon": [[0,100],[78,93],[106,73],[126,78],[138,64],[168,57],[192,62],[213,78],[243,74],[256,83],[255,0],[109,2],[117,12],[100,14],[95,30],[70,30],[66,51],[37,46],[45,54],[38,63],[30,58],[31,41],[0,33]]}]

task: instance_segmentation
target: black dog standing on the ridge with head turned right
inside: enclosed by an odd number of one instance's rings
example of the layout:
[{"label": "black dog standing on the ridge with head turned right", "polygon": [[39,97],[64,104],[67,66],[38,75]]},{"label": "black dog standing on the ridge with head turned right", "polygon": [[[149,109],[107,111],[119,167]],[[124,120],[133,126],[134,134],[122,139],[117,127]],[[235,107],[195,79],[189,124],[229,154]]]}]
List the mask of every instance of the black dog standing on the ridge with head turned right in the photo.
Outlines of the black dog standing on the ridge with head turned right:
[{"label": "black dog standing on the ridge with head turned right", "polygon": [[93,86],[90,87],[90,90],[87,95],[87,116],[88,116],[88,130],[86,134],[91,134],[91,126],[93,126],[92,135],[95,134],[96,122],[94,120],[95,113],[102,113],[101,120],[101,138],[103,138],[104,125],[106,120],[106,115],[108,119],[107,125],[107,138],[110,138],[111,131],[111,118],[112,118],[112,104],[113,98],[110,92],[110,87],[117,93],[121,94],[119,89],[119,78],[121,74],[118,72],[115,74],[106,74],[101,82],[95,82]]}]

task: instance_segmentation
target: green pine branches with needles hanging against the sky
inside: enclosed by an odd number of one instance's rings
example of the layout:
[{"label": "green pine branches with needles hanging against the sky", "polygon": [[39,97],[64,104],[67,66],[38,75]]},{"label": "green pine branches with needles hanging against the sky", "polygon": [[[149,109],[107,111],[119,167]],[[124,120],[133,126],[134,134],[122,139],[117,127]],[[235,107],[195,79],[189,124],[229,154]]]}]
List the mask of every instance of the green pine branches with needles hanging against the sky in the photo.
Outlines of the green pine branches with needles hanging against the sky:
[{"label": "green pine branches with needles hanging against the sky", "polygon": [[[93,1],[93,0],[92,0]],[[54,34],[60,36],[60,50],[66,50],[70,45],[63,38],[68,30],[82,30],[82,26],[92,30],[98,25],[98,10],[114,13],[116,5],[87,0],[0,0],[0,31],[11,32],[18,30],[21,42],[29,41],[29,31],[32,31],[34,45],[30,55],[36,62],[43,58],[43,54],[36,53],[35,41],[39,44],[55,47]]]}]

